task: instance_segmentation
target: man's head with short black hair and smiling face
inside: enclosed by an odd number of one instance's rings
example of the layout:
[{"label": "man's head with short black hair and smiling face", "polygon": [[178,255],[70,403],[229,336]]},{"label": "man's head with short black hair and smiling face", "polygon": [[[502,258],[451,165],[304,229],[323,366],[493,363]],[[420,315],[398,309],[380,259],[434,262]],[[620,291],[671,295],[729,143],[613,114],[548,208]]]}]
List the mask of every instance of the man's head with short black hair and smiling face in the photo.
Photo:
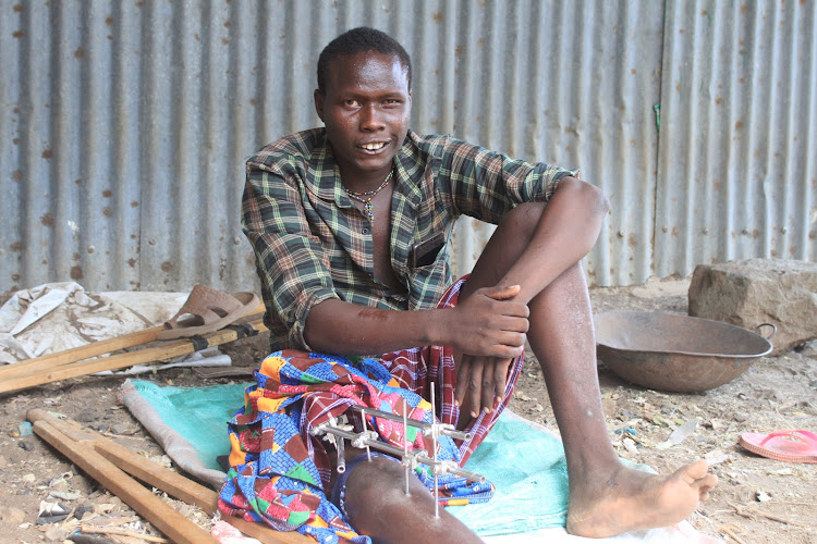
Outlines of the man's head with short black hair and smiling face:
[{"label": "man's head with short black hair and smiling face", "polygon": [[355,28],[320,53],[318,82],[315,111],[343,183],[370,190],[388,176],[408,132],[408,54],[379,30]]}]

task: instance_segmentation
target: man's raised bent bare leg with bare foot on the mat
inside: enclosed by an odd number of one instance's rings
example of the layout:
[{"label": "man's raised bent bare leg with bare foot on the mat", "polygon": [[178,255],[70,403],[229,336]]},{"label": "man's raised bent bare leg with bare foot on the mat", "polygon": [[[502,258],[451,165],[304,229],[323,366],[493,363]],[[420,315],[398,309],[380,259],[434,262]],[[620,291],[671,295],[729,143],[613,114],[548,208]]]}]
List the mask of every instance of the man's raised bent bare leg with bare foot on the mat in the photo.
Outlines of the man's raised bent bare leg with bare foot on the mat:
[{"label": "man's raised bent bare leg with bare foot on the mat", "polygon": [[[505,218],[461,294],[492,286],[527,249],[540,210]],[[541,364],[564,442],[570,475],[568,531],[583,536],[667,527],[707,499],[717,478],[700,460],[671,475],[624,467],[610,443],[596,371],[593,312],[581,265],[564,271],[528,304],[527,337]]]}]

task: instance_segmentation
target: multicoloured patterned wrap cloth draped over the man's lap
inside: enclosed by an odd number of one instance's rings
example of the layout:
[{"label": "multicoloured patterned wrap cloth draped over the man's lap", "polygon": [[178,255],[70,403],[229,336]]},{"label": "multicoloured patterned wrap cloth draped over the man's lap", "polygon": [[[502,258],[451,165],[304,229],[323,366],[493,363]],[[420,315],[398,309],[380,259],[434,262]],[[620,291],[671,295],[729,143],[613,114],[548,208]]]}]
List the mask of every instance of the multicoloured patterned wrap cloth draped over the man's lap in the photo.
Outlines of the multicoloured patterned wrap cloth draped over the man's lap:
[{"label": "multicoloured patterned wrap cloth draped over the man's lap", "polygon": [[[456,305],[462,281],[449,287],[440,308]],[[522,357],[509,371],[504,400],[493,412],[481,413],[467,431],[466,442],[440,436],[437,458],[462,466],[504,410],[522,367]],[[279,531],[296,530],[321,543],[344,539],[370,542],[358,535],[327,495],[331,461],[326,443],[309,430],[332,418],[346,416],[355,432],[363,431],[353,405],[391,412],[402,418],[405,401],[408,419],[432,423],[431,383],[438,398],[439,421],[456,424],[454,406],[456,372],[448,347],[430,346],[387,354],[381,359],[347,359],[324,354],[284,350],[268,356],[255,372],[256,384],[247,387],[244,407],[229,423],[231,469],[221,489],[219,508],[247,521],[263,521]],[[349,411],[347,411],[349,410]],[[432,457],[435,443],[416,428],[404,433],[402,422],[366,415],[366,428],[392,446],[426,449]],[[419,465],[419,480],[434,489],[429,467]],[[438,477],[440,504],[487,502],[490,483],[470,483],[454,474]]]}]

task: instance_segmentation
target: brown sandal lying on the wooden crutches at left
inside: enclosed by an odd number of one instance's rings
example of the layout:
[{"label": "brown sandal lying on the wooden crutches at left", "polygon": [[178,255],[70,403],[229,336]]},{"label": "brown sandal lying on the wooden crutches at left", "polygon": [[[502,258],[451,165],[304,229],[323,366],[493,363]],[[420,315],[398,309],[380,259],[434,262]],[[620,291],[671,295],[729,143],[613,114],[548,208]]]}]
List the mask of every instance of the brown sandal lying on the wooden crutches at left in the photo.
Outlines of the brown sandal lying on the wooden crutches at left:
[{"label": "brown sandal lying on the wooden crutches at left", "polygon": [[224,293],[206,285],[193,287],[187,300],[169,321],[157,339],[174,339],[211,333],[249,316],[260,305],[255,293]]}]

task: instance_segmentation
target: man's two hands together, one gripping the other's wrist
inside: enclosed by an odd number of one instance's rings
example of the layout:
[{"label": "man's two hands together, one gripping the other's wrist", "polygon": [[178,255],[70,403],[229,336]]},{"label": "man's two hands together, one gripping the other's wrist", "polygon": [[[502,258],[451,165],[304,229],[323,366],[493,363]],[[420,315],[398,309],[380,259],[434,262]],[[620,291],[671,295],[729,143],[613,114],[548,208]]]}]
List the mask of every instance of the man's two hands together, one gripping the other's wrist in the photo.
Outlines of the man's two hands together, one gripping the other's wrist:
[{"label": "man's two hands together, one gripping the other's wrist", "polygon": [[462,353],[456,369],[458,406],[466,398],[471,413],[490,412],[502,401],[508,367],[522,355],[527,332],[528,309],[512,299],[520,286],[477,289],[459,305],[455,339],[452,345]]}]

